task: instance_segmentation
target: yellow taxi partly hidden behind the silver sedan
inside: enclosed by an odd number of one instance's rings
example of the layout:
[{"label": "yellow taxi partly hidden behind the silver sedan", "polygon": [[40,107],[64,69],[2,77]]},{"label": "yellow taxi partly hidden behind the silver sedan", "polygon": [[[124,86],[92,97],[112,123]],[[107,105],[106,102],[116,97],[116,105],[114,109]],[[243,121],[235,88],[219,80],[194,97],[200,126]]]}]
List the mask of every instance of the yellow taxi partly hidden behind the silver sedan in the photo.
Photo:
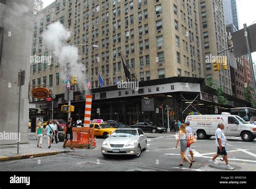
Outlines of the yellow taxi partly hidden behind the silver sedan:
[{"label": "yellow taxi partly hidden behind the silver sedan", "polygon": [[107,138],[107,134],[112,134],[112,132],[116,131],[116,128],[106,123],[91,123],[90,128],[94,128],[95,136],[103,138]]}]

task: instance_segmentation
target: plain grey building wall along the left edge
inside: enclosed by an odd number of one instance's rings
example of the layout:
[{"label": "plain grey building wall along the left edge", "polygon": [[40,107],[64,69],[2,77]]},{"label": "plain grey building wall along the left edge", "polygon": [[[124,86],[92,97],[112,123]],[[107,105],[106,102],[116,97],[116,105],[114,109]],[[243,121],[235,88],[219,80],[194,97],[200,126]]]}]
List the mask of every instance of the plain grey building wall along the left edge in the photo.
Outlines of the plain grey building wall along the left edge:
[{"label": "plain grey building wall along the left edge", "polygon": [[[25,70],[25,84],[21,87],[21,143],[28,143],[32,16],[30,0],[0,1],[0,103],[4,107],[0,114],[0,133],[18,132],[18,72]],[[1,139],[0,145],[3,144],[17,144],[17,139]]]}]

